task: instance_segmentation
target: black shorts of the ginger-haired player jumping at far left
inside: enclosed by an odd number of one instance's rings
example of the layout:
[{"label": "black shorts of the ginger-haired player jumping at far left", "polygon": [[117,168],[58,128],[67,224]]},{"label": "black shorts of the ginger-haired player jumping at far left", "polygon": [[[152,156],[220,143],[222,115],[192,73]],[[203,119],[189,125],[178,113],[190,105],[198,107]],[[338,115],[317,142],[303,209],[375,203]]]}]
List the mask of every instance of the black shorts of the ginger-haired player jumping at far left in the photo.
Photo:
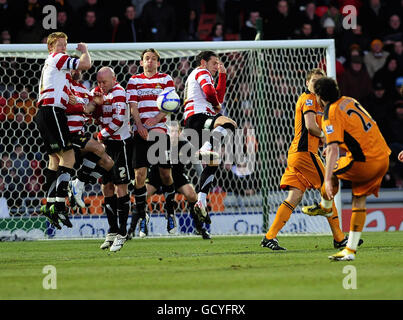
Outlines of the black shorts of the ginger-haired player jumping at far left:
[{"label": "black shorts of the ginger-haired player jumping at far left", "polygon": [[64,109],[53,106],[39,107],[34,121],[48,154],[73,148]]}]

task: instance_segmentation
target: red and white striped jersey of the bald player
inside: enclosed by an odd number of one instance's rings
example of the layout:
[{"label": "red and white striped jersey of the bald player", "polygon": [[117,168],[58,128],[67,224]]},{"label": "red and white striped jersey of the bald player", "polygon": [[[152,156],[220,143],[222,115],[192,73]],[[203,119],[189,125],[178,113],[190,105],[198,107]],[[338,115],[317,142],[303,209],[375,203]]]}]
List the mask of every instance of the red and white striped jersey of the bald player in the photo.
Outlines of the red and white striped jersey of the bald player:
[{"label": "red and white striped jersey of the bald player", "polygon": [[[100,92],[99,87],[95,87],[93,92]],[[130,133],[130,110],[126,104],[126,91],[119,83],[115,83],[113,88],[104,94],[104,104],[97,106],[94,117],[98,117],[101,125],[100,134],[103,139],[126,140]]]}]

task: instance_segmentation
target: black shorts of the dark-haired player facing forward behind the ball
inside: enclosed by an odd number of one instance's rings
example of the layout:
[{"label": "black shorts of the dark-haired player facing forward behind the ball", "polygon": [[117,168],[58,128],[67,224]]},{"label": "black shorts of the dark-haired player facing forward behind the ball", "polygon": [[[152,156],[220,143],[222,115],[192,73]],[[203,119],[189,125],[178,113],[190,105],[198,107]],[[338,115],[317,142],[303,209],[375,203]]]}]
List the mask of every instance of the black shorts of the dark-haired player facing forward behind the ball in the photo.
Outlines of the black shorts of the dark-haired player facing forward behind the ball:
[{"label": "black shorts of the dark-haired player facing forward behind the ball", "polygon": [[[140,135],[135,134],[133,137],[133,168],[149,168],[151,165],[158,165],[162,168],[171,168],[171,141],[169,135],[161,135],[162,139],[166,139],[162,148],[158,148],[158,140],[147,141]],[[165,148],[166,146],[166,148]],[[152,148],[152,149],[151,149]],[[149,152],[150,151],[150,152]],[[160,152],[161,151],[161,152]],[[150,153],[150,154],[149,154]]]}]

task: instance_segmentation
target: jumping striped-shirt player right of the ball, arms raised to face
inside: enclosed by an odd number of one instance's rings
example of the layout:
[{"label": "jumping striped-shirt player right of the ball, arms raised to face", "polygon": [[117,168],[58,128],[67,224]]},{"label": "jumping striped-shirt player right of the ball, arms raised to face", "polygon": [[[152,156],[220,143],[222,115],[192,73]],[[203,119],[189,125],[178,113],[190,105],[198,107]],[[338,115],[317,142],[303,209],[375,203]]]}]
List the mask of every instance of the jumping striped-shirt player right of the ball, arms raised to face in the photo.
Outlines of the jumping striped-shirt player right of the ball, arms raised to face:
[{"label": "jumping striped-shirt player right of the ball, arms raised to face", "polygon": [[[201,173],[197,186],[198,201],[195,213],[200,220],[210,223],[207,213],[207,194],[211,189],[218,169],[219,154],[222,139],[229,133],[235,134],[237,127],[234,120],[220,114],[221,103],[224,101],[226,89],[226,69],[213,51],[202,51],[196,57],[197,68],[194,69],[185,85],[185,126],[196,130],[201,148],[198,154],[202,159],[212,161]],[[214,87],[213,76],[218,72],[218,84]],[[211,139],[203,141],[204,130],[209,130]],[[213,150],[213,147],[217,150]]]}]

